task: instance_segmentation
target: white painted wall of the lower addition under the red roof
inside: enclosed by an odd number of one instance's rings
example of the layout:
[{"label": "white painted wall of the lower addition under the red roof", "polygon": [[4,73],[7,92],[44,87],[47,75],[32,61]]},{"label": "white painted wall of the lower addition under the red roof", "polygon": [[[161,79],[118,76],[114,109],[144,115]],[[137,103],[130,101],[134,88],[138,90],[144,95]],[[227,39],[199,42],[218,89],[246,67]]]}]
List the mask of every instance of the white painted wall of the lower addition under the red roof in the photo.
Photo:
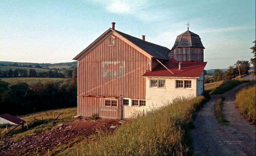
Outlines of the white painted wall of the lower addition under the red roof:
[{"label": "white painted wall of the lower addition under the red roof", "polygon": [[[165,80],[165,88],[150,88],[150,79],[146,78],[146,106],[132,106],[131,99],[129,99],[129,106],[123,105],[123,118],[129,118],[134,111],[147,111],[152,107],[158,107],[172,102],[177,96],[198,96],[203,93],[204,73],[199,78],[153,78]],[[175,80],[191,80],[191,88],[176,88]],[[184,84],[183,84],[184,85]]]}]

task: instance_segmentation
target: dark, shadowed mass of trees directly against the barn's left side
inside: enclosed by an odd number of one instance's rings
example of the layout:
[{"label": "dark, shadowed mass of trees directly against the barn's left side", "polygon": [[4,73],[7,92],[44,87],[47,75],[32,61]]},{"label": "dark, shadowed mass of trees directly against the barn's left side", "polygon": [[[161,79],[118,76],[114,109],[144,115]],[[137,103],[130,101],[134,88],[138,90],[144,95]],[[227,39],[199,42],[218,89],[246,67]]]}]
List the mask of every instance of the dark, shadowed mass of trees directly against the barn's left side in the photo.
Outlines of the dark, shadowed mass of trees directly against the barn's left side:
[{"label": "dark, shadowed mass of trees directly against the barn's left side", "polygon": [[10,85],[0,80],[0,114],[22,115],[37,111],[74,107],[77,104],[77,68],[70,82],[48,81],[33,86],[18,82]]}]

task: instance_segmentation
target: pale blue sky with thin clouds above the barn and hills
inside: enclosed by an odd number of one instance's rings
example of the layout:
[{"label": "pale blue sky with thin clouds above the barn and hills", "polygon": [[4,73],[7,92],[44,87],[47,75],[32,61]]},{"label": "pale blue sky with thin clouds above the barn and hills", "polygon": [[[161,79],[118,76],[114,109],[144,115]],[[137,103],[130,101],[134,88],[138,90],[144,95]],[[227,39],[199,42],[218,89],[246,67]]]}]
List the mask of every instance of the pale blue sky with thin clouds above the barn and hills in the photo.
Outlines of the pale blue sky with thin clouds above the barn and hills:
[{"label": "pale blue sky with thin clouds above the barn and hills", "polygon": [[0,0],[0,61],[74,61],[112,21],[171,49],[189,21],[205,47],[205,69],[227,68],[252,58],[255,12],[255,0]]}]

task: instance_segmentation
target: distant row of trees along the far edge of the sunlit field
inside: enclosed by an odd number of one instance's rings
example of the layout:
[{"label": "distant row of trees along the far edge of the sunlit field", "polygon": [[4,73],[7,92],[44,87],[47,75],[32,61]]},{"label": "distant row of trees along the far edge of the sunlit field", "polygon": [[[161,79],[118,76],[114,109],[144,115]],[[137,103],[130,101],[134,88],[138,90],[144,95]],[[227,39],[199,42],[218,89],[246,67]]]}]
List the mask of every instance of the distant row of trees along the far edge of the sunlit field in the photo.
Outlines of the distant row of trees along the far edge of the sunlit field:
[{"label": "distant row of trees along the far edge of the sunlit field", "polygon": [[72,77],[72,69],[62,69],[61,72],[55,70],[48,70],[45,72],[36,72],[35,69],[6,69],[0,70],[0,77],[51,77],[51,78],[71,78]]}]

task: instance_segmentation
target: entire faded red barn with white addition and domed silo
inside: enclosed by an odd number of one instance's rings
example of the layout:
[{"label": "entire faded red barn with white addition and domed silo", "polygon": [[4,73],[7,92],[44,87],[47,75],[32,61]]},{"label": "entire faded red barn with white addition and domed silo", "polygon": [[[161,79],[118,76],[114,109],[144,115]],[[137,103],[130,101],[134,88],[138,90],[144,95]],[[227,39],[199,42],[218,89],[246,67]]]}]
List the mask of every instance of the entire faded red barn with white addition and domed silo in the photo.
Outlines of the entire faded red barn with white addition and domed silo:
[{"label": "entire faded red barn with white addition and domed silo", "polygon": [[115,22],[77,60],[77,114],[129,118],[136,110],[161,106],[204,89],[204,46],[187,30],[172,49],[115,29]]}]

